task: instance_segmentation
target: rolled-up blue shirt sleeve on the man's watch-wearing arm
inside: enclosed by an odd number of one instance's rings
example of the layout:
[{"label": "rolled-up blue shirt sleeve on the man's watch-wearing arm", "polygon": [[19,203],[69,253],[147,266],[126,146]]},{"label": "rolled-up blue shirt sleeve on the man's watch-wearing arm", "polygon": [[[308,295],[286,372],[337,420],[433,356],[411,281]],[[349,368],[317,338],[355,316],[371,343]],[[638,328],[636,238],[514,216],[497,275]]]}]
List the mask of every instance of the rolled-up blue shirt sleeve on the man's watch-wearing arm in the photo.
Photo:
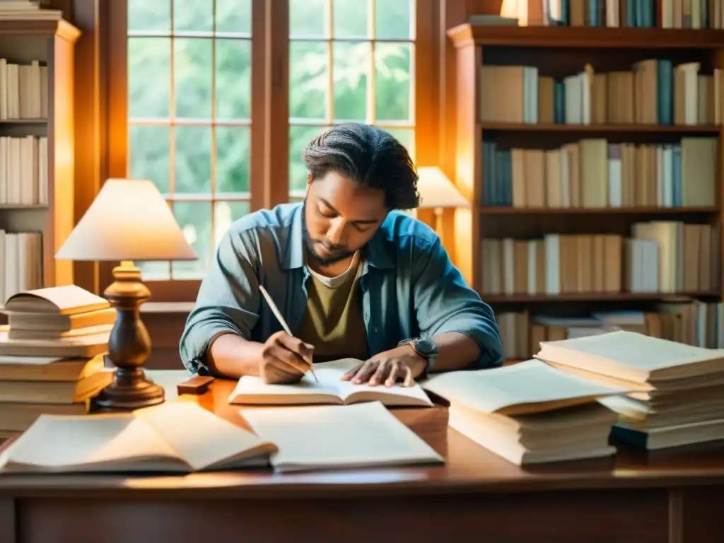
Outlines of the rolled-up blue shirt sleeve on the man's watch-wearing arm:
[{"label": "rolled-up blue shirt sleeve on the man's watch-wearing arm", "polygon": [[474,369],[501,366],[502,343],[492,309],[466,285],[439,239],[427,247],[413,264],[414,306],[421,334],[466,334],[480,347]]}]

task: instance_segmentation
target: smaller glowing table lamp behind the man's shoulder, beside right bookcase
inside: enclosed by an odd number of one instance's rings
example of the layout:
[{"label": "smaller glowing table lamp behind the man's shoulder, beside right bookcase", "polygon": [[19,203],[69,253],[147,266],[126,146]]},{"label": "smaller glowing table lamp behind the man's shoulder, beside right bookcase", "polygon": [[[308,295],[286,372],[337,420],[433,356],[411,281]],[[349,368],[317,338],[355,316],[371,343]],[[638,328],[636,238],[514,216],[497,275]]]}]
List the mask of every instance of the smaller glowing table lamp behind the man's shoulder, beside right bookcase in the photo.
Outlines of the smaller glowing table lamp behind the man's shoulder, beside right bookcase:
[{"label": "smaller glowing table lamp behind the man's shoulder, beside right bookcase", "polygon": [[418,218],[433,227],[443,241],[446,237],[452,241],[455,208],[468,207],[470,204],[437,166],[419,167],[417,174],[417,190],[421,196],[418,209],[432,210],[434,214],[432,220],[427,220],[424,212],[418,214]]}]

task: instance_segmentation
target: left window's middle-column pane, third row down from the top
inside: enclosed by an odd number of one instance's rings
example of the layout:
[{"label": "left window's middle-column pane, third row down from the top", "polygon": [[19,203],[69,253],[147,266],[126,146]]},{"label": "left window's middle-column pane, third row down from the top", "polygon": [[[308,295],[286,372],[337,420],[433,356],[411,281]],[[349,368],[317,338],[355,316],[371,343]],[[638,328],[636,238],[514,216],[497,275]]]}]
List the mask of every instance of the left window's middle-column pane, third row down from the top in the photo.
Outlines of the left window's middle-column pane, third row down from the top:
[{"label": "left window's middle-column pane, third row down from the top", "polygon": [[174,193],[211,192],[211,127],[174,128]]}]

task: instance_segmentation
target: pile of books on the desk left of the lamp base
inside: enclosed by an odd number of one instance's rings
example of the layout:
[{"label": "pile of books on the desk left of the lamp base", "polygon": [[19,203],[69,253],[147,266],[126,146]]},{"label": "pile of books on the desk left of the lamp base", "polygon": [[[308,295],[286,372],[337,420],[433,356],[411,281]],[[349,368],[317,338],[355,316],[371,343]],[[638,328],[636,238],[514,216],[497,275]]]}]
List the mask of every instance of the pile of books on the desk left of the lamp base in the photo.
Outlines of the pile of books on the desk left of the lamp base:
[{"label": "pile of books on the desk left of the lamp base", "polygon": [[104,355],[116,312],[108,301],[68,285],[20,292],[2,312],[0,439],[43,413],[87,413],[112,378]]}]

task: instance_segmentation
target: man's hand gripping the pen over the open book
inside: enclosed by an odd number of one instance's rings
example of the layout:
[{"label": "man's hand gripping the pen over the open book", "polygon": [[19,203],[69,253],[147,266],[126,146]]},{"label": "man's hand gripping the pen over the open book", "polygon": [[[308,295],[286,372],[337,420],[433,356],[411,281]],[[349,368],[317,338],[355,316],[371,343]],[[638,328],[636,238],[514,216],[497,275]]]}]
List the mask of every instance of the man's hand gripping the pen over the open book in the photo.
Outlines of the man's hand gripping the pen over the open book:
[{"label": "man's hand gripping the pen over the open book", "polygon": [[296,383],[309,371],[313,345],[277,332],[264,342],[259,361],[259,376],[265,383]]}]

